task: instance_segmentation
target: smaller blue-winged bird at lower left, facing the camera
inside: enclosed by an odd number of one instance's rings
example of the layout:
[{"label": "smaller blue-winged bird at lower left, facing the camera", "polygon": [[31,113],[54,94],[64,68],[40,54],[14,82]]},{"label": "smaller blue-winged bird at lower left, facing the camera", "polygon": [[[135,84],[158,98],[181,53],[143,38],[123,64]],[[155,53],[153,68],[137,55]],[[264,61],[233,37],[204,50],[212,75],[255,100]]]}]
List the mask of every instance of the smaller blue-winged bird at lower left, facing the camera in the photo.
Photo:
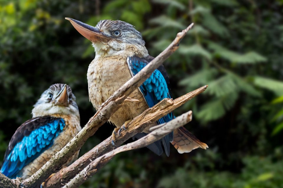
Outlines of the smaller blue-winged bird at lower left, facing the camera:
[{"label": "smaller blue-winged bird at lower left, facing the camera", "polygon": [[[75,95],[66,84],[53,84],[32,109],[32,119],[18,127],[4,155],[0,172],[27,179],[81,130]],[[76,152],[65,165],[78,158]],[[64,166],[64,165],[63,165]]]}]

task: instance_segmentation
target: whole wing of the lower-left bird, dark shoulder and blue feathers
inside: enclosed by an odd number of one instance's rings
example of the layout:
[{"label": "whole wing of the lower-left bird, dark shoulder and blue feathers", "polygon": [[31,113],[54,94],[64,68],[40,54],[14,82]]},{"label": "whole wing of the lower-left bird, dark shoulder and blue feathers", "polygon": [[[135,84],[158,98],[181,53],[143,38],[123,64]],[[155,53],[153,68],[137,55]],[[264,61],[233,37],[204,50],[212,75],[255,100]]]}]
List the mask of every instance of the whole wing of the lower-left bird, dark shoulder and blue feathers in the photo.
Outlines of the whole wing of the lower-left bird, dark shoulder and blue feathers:
[{"label": "whole wing of the lower-left bird, dark shoulder and blue feathers", "polygon": [[0,172],[9,178],[16,178],[23,167],[52,146],[53,140],[64,127],[62,118],[50,116],[33,118],[23,123],[9,143]]}]

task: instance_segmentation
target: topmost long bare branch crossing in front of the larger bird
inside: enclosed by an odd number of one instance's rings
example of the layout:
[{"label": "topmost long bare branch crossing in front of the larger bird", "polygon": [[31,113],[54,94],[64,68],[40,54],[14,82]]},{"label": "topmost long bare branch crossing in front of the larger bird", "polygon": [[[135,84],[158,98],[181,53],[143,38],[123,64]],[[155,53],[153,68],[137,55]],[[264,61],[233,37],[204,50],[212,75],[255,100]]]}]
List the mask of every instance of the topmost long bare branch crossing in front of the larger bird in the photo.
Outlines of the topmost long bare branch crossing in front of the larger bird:
[{"label": "topmost long bare branch crossing in front of the larger bird", "polygon": [[96,130],[103,125],[109,117],[121,107],[125,98],[137,89],[151,74],[157,69],[178,47],[182,38],[187,31],[192,28],[193,24],[188,26],[182,32],[178,33],[174,41],[154,60],[145,66],[133,78],[127,81],[119,88],[110,98],[108,98],[97,110],[96,114],[91,117],[83,129],[59,152],[55,153],[52,158],[36,173],[28,179],[22,181],[24,187],[38,187],[47,177],[56,170],[60,169],[62,164],[77,152],[85,141],[91,137]]}]

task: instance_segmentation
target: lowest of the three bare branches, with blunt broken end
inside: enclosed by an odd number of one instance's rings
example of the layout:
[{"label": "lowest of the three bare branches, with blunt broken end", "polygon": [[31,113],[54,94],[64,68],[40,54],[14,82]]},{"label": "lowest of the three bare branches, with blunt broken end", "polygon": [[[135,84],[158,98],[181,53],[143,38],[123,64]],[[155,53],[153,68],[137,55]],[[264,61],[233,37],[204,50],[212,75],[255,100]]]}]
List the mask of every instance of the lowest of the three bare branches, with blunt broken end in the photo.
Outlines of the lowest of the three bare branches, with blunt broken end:
[{"label": "lowest of the three bare branches, with blunt broken end", "polygon": [[118,147],[115,150],[112,150],[111,152],[108,152],[101,157],[98,157],[96,160],[91,162],[87,167],[85,167],[82,171],[80,171],[79,174],[77,174],[73,179],[70,180],[63,188],[75,188],[79,187],[83,182],[85,182],[88,178],[90,178],[93,174],[95,174],[101,167],[103,167],[106,163],[108,163],[116,154],[138,149],[141,147],[145,147],[174,129],[177,129],[186,123],[190,122],[192,120],[192,111],[189,111],[187,113],[182,114],[179,117],[176,117],[175,119],[171,120],[170,122],[164,123],[162,126],[158,125],[158,127],[148,135],[142,137],[141,139],[131,142],[129,144],[126,144],[124,146]]}]

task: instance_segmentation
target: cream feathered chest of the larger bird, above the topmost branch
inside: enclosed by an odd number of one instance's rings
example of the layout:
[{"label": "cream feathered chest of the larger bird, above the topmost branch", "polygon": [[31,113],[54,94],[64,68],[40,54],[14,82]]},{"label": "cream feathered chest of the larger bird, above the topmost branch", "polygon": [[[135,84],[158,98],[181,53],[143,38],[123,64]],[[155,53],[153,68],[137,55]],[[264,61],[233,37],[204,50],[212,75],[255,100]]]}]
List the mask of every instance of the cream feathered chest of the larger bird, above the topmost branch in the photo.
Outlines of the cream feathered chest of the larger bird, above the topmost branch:
[{"label": "cream feathered chest of the larger bird, above the topmost branch", "polygon": [[95,58],[88,67],[89,99],[97,109],[131,78],[127,57]]}]

